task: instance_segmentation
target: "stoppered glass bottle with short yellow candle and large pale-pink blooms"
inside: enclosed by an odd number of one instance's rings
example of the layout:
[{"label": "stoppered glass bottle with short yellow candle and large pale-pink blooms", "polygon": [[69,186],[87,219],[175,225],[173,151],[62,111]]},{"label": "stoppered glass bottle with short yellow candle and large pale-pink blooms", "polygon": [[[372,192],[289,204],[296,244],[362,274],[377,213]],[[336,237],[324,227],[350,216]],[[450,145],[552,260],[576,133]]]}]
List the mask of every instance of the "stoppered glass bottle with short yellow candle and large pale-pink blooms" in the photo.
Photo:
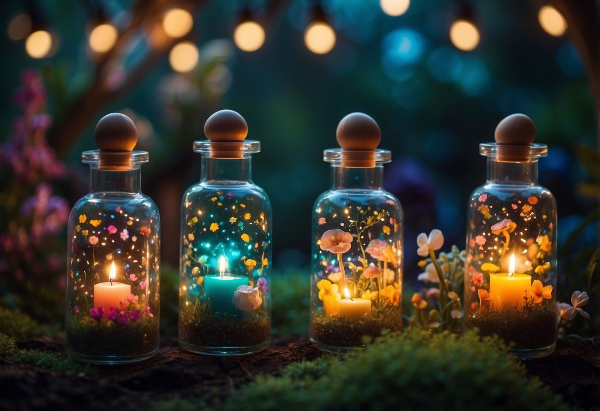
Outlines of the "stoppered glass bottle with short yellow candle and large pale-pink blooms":
[{"label": "stoppered glass bottle with short yellow candle and large pale-pink blooms", "polygon": [[310,300],[310,340],[323,350],[402,327],[403,213],[382,187],[391,153],[380,140],[371,117],[351,113],[337,128],[341,149],[323,153],[332,185],[313,208]]}]

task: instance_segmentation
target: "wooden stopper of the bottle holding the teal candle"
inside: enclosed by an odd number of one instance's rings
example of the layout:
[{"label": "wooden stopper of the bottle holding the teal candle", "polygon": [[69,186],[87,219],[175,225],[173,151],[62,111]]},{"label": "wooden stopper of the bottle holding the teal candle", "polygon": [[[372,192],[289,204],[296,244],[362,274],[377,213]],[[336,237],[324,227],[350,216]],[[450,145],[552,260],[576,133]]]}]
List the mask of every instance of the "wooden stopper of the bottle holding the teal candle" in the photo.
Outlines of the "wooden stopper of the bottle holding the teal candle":
[{"label": "wooden stopper of the bottle holding the teal candle", "polygon": [[211,140],[212,158],[242,158],[248,124],[233,110],[219,110],[204,123],[204,134]]}]

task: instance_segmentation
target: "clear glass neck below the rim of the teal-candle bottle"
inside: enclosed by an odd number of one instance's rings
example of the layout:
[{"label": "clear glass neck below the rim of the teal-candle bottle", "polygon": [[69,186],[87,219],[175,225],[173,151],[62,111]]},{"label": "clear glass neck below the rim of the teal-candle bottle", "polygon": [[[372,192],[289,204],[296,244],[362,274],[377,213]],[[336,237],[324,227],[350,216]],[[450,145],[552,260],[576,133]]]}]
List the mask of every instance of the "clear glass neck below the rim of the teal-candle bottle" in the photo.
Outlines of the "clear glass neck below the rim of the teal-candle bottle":
[{"label": "clear glass neck below the rim of the teal-candle bottle", "polygon": [[248,158],[202,157],[200,182],[220,185],[224,182],[251,183],[251,161]]}]

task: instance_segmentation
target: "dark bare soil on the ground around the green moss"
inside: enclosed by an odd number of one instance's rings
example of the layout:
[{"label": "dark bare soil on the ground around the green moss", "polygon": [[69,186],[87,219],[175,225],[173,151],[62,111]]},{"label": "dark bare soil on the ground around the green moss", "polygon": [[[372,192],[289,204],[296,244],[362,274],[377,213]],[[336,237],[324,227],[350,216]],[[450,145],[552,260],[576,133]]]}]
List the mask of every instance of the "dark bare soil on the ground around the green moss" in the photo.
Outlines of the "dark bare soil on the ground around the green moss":
[{"label": "dark bare soil on the ground around the green moss", "polygon": [[[148,361],[96,366],[97,377],[0,359],[0,409],[129,411],[148,409],[173,395],[218,403],[259,373],[277,375],[285,365],[323,354],[306,336],[274,337],[269,349],[238,357],[195,355],[182,350],[175,337],[161,339],[160,346]],[[28,340],[19,347],[65,352],[64,344],[47,339]],[[553,355],[524,364],[572,406],[597,409],[600,404],[600,347],[561,343]]]}]

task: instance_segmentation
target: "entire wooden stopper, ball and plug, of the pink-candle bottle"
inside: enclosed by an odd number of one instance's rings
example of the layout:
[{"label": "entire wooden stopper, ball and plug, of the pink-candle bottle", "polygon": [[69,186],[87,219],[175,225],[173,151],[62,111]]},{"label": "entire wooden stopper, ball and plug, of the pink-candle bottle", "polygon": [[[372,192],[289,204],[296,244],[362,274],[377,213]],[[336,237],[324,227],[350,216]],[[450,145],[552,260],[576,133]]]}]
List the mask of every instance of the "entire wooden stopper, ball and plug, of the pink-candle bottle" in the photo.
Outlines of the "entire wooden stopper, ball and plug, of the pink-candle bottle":
[{"label": "entire wooden stopper, ball and plug, of the pink-candle bottle", "polygon": [[137,143],[137,128],[121,113],[102,117],[94,130],[94,140],[100,149],[100,170],[131,170],[131,150]]}]

